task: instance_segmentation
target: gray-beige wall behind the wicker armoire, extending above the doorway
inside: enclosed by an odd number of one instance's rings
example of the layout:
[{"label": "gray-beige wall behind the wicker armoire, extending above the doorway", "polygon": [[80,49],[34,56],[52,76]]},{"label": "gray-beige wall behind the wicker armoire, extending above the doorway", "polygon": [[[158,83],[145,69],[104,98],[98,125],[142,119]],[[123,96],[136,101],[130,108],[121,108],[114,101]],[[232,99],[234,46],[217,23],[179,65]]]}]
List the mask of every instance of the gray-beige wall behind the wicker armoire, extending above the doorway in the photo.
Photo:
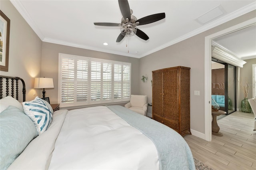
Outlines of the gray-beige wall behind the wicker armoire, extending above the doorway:
[{"label": "gray-beige wall behind the wicker armoire, extending above the doorway", "polygon": [[[167,67],[190,67],[190,127],[204,134],[204,39],[206,36],[254,18],[256,11],[249,12],[220,26],[207,30],[201,34],[188,38],[140,59],[140,75],[147,74],[152,79],[152,71]],[[211,56],[209,56],[211,57]],[[194,95],[200,91],[200,95]],[[148,102],[152,101],[152,87],[150,81],[140,82],[140,93],[148,95]],[[207,99],[208,100],[208,99]]]}]

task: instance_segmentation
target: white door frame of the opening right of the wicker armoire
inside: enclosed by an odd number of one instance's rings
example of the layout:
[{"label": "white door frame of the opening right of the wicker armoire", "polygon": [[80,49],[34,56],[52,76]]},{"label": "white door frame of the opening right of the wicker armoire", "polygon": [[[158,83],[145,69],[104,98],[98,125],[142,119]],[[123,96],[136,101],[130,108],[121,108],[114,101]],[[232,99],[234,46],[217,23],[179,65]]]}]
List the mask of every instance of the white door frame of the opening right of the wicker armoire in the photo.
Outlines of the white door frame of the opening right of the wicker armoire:
[{"label": "white door frame of the opening right of the wicker armoire", "polygon": [[212,94],[212,47],[211,41],[214,38],[230,34],[240,29],[246,28],[256,23],[256,18],[252,18],[220,32],[216,32],[205,37],[204,41],[204,139],[212,141],[212,107],[211,107],[211,94]]}]

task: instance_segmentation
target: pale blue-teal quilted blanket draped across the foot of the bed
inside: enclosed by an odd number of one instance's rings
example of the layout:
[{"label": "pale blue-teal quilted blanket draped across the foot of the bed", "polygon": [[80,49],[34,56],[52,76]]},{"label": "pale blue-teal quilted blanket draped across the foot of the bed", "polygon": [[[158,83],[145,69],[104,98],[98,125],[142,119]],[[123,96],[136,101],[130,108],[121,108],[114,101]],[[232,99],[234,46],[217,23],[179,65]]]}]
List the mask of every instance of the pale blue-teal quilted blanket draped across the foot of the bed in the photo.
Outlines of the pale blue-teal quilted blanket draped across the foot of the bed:
[{"label": "pale blue-teal quilted blanket draped across the foot of the bed", "polygon": [[175,130],[125,107],[107,107],[154,142],[160,170],[196,169],[188,144]]}]

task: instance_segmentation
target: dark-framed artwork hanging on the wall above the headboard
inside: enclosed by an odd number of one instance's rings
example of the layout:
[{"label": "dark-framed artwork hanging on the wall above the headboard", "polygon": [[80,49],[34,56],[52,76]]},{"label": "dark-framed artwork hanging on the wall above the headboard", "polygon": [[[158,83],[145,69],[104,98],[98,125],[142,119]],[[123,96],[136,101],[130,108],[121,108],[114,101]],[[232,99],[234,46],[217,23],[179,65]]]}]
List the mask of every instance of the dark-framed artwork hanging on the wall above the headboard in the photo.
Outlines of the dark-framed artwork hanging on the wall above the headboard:
[{"label": "dark-framed artwork hanging on the wall above the headboard", "polygon": [[8,71],[10,19],[0,10],[0,70]]}]

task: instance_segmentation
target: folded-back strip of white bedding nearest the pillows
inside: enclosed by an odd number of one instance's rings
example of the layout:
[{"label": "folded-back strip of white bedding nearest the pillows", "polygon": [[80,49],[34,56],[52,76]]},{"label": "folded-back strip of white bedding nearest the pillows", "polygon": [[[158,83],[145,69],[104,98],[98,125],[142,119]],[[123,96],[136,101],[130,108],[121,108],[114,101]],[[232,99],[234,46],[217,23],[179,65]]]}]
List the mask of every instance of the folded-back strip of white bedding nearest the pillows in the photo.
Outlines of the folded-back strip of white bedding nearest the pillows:
[{"label": "folded-back strip of white bedding nearest the pillows", "polygon": [[56,111],[48,130],[32,140],[25,150],[12,162],[8,170],[48,169],[55,140],[58,137],[68,110]]}]

